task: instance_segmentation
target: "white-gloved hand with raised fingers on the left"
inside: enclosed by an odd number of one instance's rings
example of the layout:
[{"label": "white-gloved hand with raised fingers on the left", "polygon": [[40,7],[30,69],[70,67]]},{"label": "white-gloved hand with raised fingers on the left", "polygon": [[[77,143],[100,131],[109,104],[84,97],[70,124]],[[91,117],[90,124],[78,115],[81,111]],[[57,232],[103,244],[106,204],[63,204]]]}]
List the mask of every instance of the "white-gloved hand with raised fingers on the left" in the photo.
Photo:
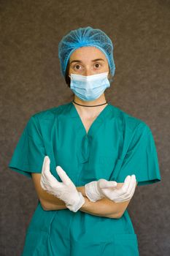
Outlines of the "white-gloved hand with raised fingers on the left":
[{"label": "white-gloved hand with raised fingers on the left", "polygon": [[50,194],[63,200],[70,211],[78,211],[85,203],[85,198],[82,196],[81,192],[77,191],[74,183],[69,176],[66,175],[66,172],[61,166],[57,166],[56,171],[63,182],[59,182],[50,173],[50,158],[45,156],[40,179],[42,189],[47,190]]}]

